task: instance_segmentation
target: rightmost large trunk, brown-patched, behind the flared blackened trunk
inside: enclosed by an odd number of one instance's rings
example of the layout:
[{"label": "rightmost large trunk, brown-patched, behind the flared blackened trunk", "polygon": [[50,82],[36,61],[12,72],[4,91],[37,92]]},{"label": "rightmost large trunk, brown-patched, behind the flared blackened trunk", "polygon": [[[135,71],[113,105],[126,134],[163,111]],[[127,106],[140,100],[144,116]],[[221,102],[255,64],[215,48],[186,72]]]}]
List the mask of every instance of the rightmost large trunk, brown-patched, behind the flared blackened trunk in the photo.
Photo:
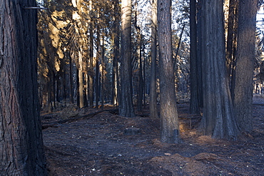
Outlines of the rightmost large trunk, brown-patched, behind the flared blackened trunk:
[{"label": "rightmost large trunk, brown-patched, behind the flared blackened trunk", "polygon": [[255,21],[258,1],[238,5],[238,55],[235,70],[235,118],[241,131],[253,130],[252,98],[255,61]]}]

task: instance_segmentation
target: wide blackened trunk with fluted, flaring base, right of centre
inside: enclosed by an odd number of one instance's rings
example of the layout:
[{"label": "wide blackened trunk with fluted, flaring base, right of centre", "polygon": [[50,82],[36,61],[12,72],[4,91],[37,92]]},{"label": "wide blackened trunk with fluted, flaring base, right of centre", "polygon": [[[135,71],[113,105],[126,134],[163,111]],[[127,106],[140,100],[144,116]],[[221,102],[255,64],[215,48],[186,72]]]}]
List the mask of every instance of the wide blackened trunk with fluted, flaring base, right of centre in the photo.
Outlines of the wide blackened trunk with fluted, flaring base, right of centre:
[{"label": "wide blackened trunk with fluted, flaring base, right of centre", "polygon": [[203,119],[205,135],[235,140],[235,123],[225,66],[223,1],[202,1]]}]

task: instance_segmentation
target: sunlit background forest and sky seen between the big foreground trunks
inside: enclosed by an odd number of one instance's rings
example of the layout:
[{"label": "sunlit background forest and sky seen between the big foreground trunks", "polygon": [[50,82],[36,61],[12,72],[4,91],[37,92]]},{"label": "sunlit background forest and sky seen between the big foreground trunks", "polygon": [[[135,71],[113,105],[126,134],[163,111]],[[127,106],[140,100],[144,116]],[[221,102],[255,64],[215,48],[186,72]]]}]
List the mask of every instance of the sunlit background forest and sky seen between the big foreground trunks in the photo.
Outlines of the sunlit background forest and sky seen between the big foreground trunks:
[{"label": "sunlit background forest and sky seen between the big foreground trunks", "polygon": [[[56,103],[66,103],[68,98],[73,98],[81,108],[86,105],[96,105],[98,108],[99,102],[101,105],[108,102],[115,102],[115,105],[118,105],[118,101],[120,103],[122,100],[120,79],[123,76],[123,74],[119,75],[120,68],[122,68],[120,59],[123,54],[120,53],[123,47],[123,44],[120,43],[121,2],[114,0],[66,2],[46,0],[38,2],[39,6],[47,8],[39,11],[38,25],[41,105],[51,111],[56,108]],[[150,100],[151,3],[146,0],[133,0],[131,6],[133,105],[141,105],[141,102],[142,105],[146,105]],[[196,8],[199,14],[199,1],[197,1]],[[176,94],[178,99],[181,98],[188,102],[191,90],[188,1],[172,1],[171,9],[173,48],[171,54]],[[228,1],[225,1],[223,9],[225,21],[227,21]],[[261,9],[260,14],[262,13]],[[259,59],[255,68],[254,93],[263,91],[263,69],[261,66],[264,42],[261,21],[262,18],[258,17]],[[225,27],[226,25],[227,23],[225,23]],[[156,73],[158,76],[157,100],[159,102],[159,71]]]}]

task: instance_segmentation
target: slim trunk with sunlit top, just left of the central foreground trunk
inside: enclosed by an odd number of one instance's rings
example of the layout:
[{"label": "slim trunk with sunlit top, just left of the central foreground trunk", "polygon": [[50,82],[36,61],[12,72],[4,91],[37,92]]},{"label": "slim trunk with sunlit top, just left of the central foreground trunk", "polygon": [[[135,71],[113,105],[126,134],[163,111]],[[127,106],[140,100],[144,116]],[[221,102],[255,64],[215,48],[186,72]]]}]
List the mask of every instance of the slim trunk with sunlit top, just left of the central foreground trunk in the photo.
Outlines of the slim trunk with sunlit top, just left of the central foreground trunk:
[{"label": "slim trunk with sunlit top, just left of the central foreground trunk", "polygon": [[157,0],[152,1],[151,21],[151,93],[149,108],[152,118],[158,118],[157,106]]}]

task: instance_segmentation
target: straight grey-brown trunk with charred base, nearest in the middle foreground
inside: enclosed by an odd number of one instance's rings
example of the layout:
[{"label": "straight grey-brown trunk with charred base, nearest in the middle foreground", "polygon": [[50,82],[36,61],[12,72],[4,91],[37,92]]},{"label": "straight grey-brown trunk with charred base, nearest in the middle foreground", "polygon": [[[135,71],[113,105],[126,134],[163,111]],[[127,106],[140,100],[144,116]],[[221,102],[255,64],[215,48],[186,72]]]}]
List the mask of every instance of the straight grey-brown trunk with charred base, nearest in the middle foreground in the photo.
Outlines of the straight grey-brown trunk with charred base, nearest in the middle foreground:
[{"label": "straight grey-brown trunk with charred base, nearest in the middle foreground", "polygon": [[180,143],[171,36],[171,0],[158,0],[158,43],[161,87],[161,141]]}]

